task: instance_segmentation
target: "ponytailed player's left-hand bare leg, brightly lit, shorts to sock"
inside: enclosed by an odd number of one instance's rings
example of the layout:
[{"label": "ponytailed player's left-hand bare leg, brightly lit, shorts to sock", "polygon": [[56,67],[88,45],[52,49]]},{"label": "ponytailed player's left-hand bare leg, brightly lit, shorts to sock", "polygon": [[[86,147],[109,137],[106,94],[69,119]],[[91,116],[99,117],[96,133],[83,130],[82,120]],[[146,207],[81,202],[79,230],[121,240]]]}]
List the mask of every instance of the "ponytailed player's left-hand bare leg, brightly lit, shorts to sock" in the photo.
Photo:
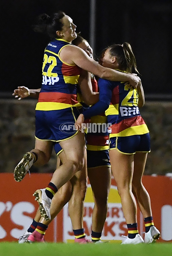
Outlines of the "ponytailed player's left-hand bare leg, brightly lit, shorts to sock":
[{"label": "ponytailed player's left-hand bare leg, brightly lit, shorts to sock", "polygon": [[117,149],[110,150],[109,155],[126,223],[137,223],[137,206],[132,193],[134,156],[122,154]]}]

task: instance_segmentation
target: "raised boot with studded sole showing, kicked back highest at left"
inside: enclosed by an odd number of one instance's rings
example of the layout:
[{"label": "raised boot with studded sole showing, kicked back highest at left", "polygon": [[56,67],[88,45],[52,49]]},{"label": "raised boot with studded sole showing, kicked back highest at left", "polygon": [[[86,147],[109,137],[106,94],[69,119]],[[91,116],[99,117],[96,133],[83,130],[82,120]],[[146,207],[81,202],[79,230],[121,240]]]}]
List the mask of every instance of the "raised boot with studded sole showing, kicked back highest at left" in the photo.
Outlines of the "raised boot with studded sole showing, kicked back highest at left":
[{"label": "raised boot with studded sole showing, kicked back highest at left", "polygon": [[27,152],[24,154],[21,161],[17,164],[14,169],[14,179],[19,182],[25,177],[26,173],[29,171],[29,168],[34,163],[34,154]]}]

